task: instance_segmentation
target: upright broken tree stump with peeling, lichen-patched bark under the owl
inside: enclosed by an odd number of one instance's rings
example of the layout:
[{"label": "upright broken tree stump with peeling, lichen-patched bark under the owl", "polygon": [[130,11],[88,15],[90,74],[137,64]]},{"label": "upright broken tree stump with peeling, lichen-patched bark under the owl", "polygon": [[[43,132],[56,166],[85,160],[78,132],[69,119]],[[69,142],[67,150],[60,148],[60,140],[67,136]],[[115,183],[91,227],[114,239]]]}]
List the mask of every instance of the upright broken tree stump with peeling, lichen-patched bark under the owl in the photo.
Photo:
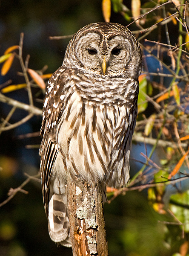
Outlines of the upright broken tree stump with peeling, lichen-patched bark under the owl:
[{"label": "upright broken tree stump with peeling, lichen-patched bark under the owl", "polygon": [[67,198],[73,256],[108,256],[100,182],[91,186],[75,177]]}]

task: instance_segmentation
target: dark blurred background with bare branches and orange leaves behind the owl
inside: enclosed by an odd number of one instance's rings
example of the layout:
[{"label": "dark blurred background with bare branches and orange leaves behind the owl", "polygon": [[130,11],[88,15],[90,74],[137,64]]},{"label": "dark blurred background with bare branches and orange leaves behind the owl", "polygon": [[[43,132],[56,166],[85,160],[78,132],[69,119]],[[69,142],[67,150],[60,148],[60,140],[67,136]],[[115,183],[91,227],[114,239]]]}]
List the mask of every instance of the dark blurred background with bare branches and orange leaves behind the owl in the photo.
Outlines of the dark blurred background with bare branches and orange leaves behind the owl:
[{"label": "dark blurred background with bare branches and orange leaves behind the owl", "polygon": [[[189,7],[183,4],[1,1],[0,255],[72,255],[49,238],[37,176],[44,87],[71,38],[49,37],[109,19],[127,26],[139,16],[129,25],[143,53],[131,182],[119,191],[108,189],[109,254],[189,255]],[[6,203],[8,191],[9,198],[15,196]]]}]

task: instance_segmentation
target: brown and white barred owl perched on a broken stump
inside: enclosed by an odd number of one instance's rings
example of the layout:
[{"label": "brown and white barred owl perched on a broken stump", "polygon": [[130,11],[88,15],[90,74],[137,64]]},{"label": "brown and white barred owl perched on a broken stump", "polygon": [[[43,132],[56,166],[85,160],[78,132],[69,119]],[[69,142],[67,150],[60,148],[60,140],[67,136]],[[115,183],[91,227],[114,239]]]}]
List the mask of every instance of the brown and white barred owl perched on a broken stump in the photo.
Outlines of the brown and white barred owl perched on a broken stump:
[{"label": "brown and white barred owl perched on a broken stump", "polygon": [[49,234],[57,243],[71,247],[68,179],[77,175],[115,188],[129,181],[140,70],[132,32],[117,23],[93,23],[74,34],[49,79],[40,169]]}]

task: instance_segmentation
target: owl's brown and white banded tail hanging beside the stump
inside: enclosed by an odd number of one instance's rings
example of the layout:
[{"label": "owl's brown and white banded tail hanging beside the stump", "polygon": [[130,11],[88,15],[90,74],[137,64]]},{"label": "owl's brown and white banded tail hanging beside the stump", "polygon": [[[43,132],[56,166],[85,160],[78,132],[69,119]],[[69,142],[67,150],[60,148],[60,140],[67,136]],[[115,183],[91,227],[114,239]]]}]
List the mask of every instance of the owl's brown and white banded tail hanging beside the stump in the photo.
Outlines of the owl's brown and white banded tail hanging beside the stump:
[{"label": "owl's brown and white banded tail hanging beside the stump", "polygon": [[52,195],[52,197],[49,201],[49,235],[54,242],[57,242],[63,246],[72,247],[69,232],[69,218],[65,186],[60,188],[60,184],[58,187],[54,183],[53,193],[50,192],[50,195]]}]

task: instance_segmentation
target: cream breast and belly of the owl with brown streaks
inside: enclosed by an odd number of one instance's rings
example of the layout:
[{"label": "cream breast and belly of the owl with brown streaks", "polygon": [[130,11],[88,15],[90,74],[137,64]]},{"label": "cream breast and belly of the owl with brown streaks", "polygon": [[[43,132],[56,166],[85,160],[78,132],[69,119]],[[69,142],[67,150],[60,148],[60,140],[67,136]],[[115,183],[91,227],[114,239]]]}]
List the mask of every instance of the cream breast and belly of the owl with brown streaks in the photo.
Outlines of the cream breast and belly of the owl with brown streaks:
[{"label": "cream breast and belly of the owl with brown streaks", "polygon": [[[60,77],[62,72],[68,72],[63,67],[59,71]],[[63,180],[80,175],[90,183],[101,180],[109,186],[123,186],[129,181],[138,84],[123,76],[95,79],[76,73],[69,70],[66,86],[53,87],[49,95],[66,102],[56,125],[59,153],[53,175]],[[58,109],[56,98],[53,102]]]}]

